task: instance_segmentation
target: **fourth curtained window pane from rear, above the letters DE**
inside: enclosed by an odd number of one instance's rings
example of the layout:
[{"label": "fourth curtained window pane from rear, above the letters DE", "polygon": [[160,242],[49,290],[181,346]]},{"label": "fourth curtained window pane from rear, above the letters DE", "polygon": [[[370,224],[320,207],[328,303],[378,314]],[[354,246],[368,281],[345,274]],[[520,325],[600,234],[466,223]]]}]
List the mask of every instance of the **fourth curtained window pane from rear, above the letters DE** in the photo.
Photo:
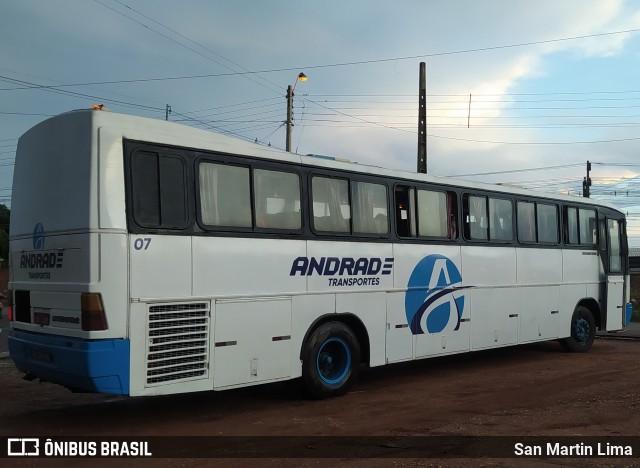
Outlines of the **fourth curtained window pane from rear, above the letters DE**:
[{"label": "fourth curtained window pane from rear, above the letters DE", "polygon": [[354,234],[387,234],[387,188],[367,182],[351,183]]}]

